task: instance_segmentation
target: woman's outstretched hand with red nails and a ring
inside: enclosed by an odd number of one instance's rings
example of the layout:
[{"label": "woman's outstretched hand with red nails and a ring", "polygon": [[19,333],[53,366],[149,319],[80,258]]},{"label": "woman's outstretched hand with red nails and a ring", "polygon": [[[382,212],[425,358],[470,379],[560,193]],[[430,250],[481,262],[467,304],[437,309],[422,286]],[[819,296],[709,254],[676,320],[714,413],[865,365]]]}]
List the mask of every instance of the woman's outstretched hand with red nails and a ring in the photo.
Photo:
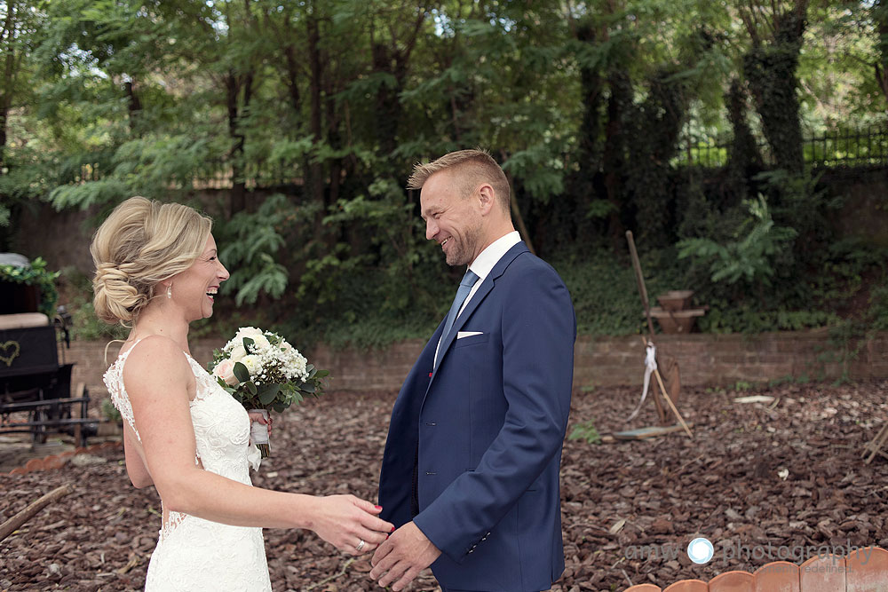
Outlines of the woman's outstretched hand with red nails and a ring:
[{"label": "woman's outstretched hand with red nails and a ring", "polygon": [[312,530],[345,553],[361,555],[372,551],[394,530],[394,525],[376,516],[382,508],[369,501],[353,495],[329,495],[315,499],[318,510]]}]

